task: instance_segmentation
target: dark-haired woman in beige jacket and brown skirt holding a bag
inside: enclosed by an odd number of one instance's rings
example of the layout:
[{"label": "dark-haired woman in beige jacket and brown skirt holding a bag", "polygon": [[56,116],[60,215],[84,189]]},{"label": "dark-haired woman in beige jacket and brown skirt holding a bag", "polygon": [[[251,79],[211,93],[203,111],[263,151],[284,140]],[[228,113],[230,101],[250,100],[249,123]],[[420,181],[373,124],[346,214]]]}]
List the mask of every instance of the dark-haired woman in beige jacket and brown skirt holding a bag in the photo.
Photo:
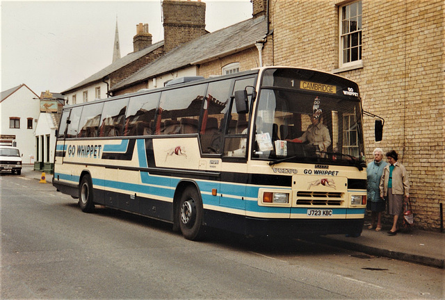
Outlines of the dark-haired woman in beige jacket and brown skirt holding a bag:
[{"label": "dark-haired woman in beige jacket and brown skirt holding a bag", "polygon": [[387,197],[389,203],[389,215],[394,216],[389,235],[396,235],[398,216],[403,213],[403,203],[410,197],[410,182],[405,167],[397,162],[398,154],[391,150],[387,153],[389,165],[383,169],[380,180],[380,197]]}]

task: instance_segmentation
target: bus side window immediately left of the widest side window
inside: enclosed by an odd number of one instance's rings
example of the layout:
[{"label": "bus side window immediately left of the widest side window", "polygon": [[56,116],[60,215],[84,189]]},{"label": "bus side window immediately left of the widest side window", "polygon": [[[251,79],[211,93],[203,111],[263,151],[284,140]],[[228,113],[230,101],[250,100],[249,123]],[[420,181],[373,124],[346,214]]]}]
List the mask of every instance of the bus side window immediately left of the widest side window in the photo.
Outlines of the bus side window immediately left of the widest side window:
[{"label": "bus side window immediately left of the widest side window", "polygon": [[125,119],[124,135],[154,134],[154,113],[158,107],[160,92],[131,97]]}]

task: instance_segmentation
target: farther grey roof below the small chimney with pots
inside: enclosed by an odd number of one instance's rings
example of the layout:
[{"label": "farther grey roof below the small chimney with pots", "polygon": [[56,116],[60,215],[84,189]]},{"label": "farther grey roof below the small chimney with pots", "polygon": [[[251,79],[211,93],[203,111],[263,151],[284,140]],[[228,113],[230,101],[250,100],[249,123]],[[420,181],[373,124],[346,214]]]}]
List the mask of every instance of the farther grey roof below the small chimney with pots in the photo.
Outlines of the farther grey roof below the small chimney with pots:
[{"label": "farther grey roof below the small chimney with pots", "polygon": [[85,80],[81,81],[80,83],[77,83],[76,85],[72,86],[71,88],[63,91],[62,94],[67,94],[68,92],[72,92],[72,90],[76,90],[78,88],[83,87],[84,85],[89,85],[90,83],[93,83],[96,81],[102,81],[102,78],[117,71],[118,69],[121,69],[122,67],[125,67],[126,65],[129,65],[130,63],[133,63],[133,61],[138,60],[139,58],[158,49],[159,47],[162,47],[163,44],[164,44],[163,41],[157,42],[157,43],[152,44],[151,46],[149,46],[145,49],[142,49],[140,51],[129,53],[127,56],[124,56],[123,58],[116,60],[114,63],[112,63],[111,65],[108,65],[108,67],[105,67],[104,69],[100,70],[96,74],[93,74],[92,76],[86,78]]}]

